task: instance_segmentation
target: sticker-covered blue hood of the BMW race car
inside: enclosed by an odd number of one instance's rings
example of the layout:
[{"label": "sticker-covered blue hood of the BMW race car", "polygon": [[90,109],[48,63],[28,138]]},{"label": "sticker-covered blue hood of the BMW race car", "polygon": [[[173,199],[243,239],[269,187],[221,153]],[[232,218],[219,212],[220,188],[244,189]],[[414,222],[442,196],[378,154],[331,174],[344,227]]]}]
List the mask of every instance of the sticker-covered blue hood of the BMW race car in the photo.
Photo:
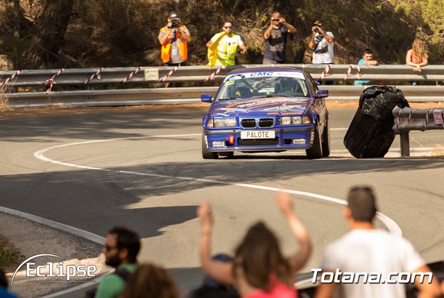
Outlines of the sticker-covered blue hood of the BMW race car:
[{"label": "sticker-covered blue hood of the BMW race car", "polygon": [[300,97],[238,98],[214,102],[211,112],[214,116],[302,115],[310,103],[310,98]]}]

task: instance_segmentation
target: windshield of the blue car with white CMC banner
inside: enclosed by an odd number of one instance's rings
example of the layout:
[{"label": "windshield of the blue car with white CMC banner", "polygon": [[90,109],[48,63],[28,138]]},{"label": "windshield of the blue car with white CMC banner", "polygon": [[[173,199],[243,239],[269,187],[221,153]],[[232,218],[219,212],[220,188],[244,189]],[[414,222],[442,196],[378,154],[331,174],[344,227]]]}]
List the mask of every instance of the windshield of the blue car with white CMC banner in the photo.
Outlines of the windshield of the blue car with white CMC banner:
[{"label": "windshield of the blue car with white CMC banner", "polygon": [[222,82],[216,100],[280,96],[310,97],[304,74],[264,71],[228,75]]}]

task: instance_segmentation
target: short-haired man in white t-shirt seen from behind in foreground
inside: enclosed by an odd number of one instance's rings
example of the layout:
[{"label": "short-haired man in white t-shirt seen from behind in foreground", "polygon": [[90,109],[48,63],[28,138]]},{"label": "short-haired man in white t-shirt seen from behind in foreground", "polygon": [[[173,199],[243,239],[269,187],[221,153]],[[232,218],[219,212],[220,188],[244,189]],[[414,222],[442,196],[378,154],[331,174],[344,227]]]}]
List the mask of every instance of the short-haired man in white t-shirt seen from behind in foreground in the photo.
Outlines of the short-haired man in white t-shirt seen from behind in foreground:
[{"label": "short-haired man in white t-shirt seen from behind in foreground", "polygon": [[[351,231],[327,246],[321,265],[323,272],[378,272],[384,281],[391,272],[431,272],[409,241],[375,228],[375,200],[368,187],[350,190],[343,213]],[[419,282],[419,277],[415,279],[420,290],[418,297],[438,297],[436,279],[432,283],[427,279],[426,276],[424,283]],[[340,287],[340,297],[406,297],[402,283],[364,283],[364,277],[359,278],[359,283],[321,283],[315,297],[332,297],[336,286]]]}]

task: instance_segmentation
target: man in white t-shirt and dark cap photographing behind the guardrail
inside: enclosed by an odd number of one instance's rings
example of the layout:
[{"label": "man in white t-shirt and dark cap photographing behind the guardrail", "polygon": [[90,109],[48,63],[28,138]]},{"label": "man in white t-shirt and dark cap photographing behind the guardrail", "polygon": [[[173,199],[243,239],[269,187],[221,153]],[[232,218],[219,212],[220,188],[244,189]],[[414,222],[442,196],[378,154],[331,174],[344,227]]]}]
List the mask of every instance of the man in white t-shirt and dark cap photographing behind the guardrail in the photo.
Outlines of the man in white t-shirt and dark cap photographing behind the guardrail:
[{"label": "man in white t-shirt and dark cap photographing behind the guardrail", "polygon": [[[325,31],[325,24],[318,19],[311,27],[311,38],[308,43],[313,50],[313,64],[332,64],[334,56],[334,35]],[[325,85],[333,85],[333,81],[325,81]]]}]

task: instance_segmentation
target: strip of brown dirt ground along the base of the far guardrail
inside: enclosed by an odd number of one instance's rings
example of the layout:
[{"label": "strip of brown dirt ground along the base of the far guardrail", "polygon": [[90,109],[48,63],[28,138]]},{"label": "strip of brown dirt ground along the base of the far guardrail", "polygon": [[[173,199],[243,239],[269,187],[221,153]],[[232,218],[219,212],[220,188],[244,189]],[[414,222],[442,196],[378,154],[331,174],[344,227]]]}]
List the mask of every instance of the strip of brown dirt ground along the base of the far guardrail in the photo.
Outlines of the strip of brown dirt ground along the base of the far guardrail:
[{"label": "strip of brown dirt ground along the base of the far guardrail", "polygon": [[[358,101],[326,101],[329,109],[357,109]],[[432,107],[444,107],[444,103],[409,103],[416,109],[427,109]],[[165,111],[172,109],[208,109],[207,103],[187,103],[177,105],[143,105],[125,107],[42,107],[42,108],[19,108],[8,109],[0,112],[0,119],[19,119],[47,116],[63,116],[72,114],[101,114],[101,113],[125,113],[125,112],[148,112]]]}]

